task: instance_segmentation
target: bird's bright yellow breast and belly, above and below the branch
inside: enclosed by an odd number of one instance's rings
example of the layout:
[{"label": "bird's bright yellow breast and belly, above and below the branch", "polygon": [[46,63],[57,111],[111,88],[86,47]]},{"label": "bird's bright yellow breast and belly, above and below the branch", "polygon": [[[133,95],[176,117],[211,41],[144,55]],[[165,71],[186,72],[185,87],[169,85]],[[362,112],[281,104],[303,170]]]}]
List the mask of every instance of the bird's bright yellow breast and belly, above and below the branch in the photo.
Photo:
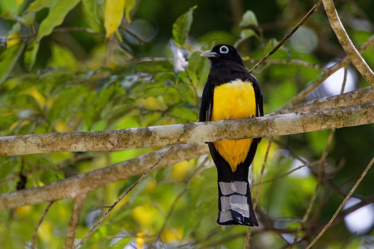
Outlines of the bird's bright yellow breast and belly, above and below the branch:
[{"label": "bird's bright yellow breast and belly, above and below the branch", "polygon": [[[251,82],[235,80],[214,88],[211,121],[248,118],[256,115],[256,100]],[[232,171],[244,162],[253,139],[213,142],[218,153],[229,163]]]}]

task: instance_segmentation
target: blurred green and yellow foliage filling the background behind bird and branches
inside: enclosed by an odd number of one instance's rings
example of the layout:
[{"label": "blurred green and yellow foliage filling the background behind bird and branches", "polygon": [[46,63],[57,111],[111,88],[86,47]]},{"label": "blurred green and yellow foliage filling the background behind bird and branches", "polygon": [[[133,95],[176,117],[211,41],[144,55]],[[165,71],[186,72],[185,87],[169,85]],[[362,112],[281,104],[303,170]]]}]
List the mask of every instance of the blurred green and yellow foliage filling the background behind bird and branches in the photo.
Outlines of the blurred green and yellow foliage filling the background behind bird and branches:
[{"label": "blurred green and yellow foliage filling the background behind bird and branches", "polygon": [[[200,56],[203,50],[218,43],[236,44],[243,57],[261,59],[314,4],[312,0],[270,0],[266,4],[234,0],[0,1],[0,136],[195,122],[209,72],[208,61]],[[335,4],[353,43],[358,46],[367,40],[374,30],[374,1]],[[343,56],[321,6],[270,59],[300,59],[323,66]],[[373,68],[373,50],[363,56]],[[357,74],[356,87],[367,86],[356,70],[353,73]],[[265,113],[282,106],[320,74],[292,64],[262,65],[254,75],[264,95]],[[340,87],[339,82],[338,91]],[[324,178],[318,191],[307,241],[331,218],[373,156],[373,128],[364,125],[336,131],[325,166],[334,174]],[[329,133],[275,137],[263,180],[319,159]],[[258,148],[253,183],[258,181],[268,141],[264,138]],[[1,157],[0,191],[15,191],[20,172],[27,175],[26,188],[43,186],[156,149]],[[82,155],[80,160],[62,163]],[[317,171],[318,165],[303,168],[261,185],[256,210],[261,224],[252,229],[252,248],[284,248],[292,242],[315,190]],[[81,248],[149,248],[151,243],[155,248],[242,248],[246,227],[215,223],[216,175],[206,156],[152,172]],[[137,179],[131,177],[89,193],[76,237],[82,238],[101,216],[102,210],[95,206],[111,205]],[[365,203],[374,202],[373,179],[371,171],[353,195]],[[253,197],[255,191],[253,186]],[[0,211],[0,247],[28,248],[46,205]],[[171,209],[159,240],[154,241]],[[61,248],[70,211],[71,200],[53,203],[39,228],[37,248]],[[315,248],[372,248],[373,222],[367,230],[352,233],[343,220],[337,221]],[[305,235],[303,231],[301,237]],[[305,246],[304,241],[295,248]]]}]

